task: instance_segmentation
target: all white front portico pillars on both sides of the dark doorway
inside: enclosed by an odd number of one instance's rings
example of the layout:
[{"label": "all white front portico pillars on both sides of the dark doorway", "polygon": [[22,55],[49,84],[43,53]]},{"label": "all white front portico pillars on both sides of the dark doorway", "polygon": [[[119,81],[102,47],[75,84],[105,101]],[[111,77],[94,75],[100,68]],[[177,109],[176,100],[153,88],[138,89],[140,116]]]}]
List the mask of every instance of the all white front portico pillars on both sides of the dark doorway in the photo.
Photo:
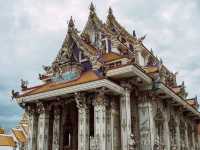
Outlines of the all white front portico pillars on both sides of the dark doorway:
[{"label": "all white front portico pillars on both sides of the dark doorway", "polygon": [[[78,108],[78,150],[106,150],[113,147],[112,109],[107,109],[108,99],[103,90],[98,91],[93,101],[94,105],[94,137],[90,137],[89,108],[86,97],[75,94]],[[29,114],[28,150],[49,149],[49,120],[50,106],[38,103],[27,106]],[[60,149],[61,110],[54,106],[53,112],[53,140],[52,150]],[[120,98],[120,130],[121,150],[128,150],[131,134],[130,91],[125,88],[125,93]],[[92,145],[93,144],[93,145]]]}]

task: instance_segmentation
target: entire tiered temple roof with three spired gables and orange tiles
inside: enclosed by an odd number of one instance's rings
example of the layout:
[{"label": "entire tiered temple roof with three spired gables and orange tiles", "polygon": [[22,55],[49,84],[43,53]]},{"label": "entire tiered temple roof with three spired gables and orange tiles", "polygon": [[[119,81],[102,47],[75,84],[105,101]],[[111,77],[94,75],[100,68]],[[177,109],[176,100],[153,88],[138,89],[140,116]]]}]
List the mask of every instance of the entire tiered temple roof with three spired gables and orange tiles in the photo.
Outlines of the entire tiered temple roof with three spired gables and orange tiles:
[{"label": "entire tiered temple roof with three spired gables and orange tiles", "polygon": [[[162,60],[144,46],[145,37],[138,38],[135,31],[131,35],[116,20],[111,8],[106,23],[103,23],[91,4],[88,21],[81,34],[71,17],[66,38],[56,59],[50,66],[44,66],[45,73],[39,75],[44,83],[23,88],[21,93],[13,94],[21,103],[32,95],[40,97],[39,94],[49,91],[102,79],[112,80],[113,72],[119,73],[120,68],[127,67],[129,73],[115,75],[115,78],[130,77],[131,71],[136,69],[136,74],[141,72],[142,77],[148,78],[153,88],[162,87],[163,90],[158,90],[159,92],[167,91],[171,94],[170,98],[177,99],[177,103],[200,117],[197,99],[187,99],[185,85],[178,86],[176,73],[169,71]],[[160,85],[156,86],[158,83]]]}]

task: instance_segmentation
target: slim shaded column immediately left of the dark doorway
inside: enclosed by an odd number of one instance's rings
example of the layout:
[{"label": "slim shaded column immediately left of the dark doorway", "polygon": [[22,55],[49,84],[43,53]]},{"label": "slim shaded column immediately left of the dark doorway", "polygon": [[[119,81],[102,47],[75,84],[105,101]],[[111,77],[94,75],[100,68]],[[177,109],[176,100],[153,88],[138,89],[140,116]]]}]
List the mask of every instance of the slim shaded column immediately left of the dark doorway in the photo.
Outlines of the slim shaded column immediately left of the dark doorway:
[{"label": "slim shaded column immediately left of the dark doorway", "polygon": [[60,118],[61,118],[61,110],[59,106],[54,107],[54,120],[53,120],[53,143],[52,149],[59,150],[60,149]]}]

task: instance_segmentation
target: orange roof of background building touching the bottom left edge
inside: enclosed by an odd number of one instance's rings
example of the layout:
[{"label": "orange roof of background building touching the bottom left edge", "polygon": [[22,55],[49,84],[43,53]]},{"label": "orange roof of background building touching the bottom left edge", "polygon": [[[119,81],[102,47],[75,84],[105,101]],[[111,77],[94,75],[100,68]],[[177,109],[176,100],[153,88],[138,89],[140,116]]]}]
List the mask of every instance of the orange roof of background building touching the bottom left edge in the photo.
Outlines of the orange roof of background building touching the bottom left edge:
[{"label": "orange roof of background building touching the bottom left edge", "polygon": [[0,146],[16,147],[16,143],[12,136],[0,134]]}]

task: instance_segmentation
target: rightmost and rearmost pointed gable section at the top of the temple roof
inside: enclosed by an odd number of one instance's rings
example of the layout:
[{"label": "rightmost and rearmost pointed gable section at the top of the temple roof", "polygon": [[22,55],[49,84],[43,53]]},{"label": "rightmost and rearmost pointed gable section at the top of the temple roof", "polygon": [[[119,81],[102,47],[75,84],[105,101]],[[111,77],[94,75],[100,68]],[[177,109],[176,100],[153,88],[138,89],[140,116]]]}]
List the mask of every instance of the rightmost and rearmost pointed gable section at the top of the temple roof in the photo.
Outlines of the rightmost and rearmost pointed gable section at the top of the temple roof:
[{"label": "rightmost and rearmost pointed gable section at the top of the temple roof", "polygon": [[116,20],[111,8],[109,8],[106,25],[112,31],[112,41],[118,41],[119,51],[127,53],[128,55],[132,55],[133,53],[137,64],[145,66],[149,56],[152,56],[156,60],[153,53],[143,45],[143,40],[146,38],[146,35],[137,38],[135,31],[133,31],[133,35],[129,34]]}]

